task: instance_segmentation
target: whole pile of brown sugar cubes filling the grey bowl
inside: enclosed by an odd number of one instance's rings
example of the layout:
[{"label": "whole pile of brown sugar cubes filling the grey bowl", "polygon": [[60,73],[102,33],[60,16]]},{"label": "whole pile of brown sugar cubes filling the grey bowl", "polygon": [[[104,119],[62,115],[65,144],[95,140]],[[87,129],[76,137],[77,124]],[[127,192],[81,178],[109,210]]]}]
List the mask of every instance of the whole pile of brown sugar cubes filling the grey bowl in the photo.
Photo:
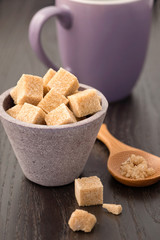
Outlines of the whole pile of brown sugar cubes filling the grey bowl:
[{"label": "whole pile of brown sugar cubes filling the grey bowl", "polygon": [[7,113],[32,124],[75,123],[101,110],[95,89],[78,89],[77,77],[63,68],[49,69],[43,78],[23,74],[10,92],[15,106]]}]

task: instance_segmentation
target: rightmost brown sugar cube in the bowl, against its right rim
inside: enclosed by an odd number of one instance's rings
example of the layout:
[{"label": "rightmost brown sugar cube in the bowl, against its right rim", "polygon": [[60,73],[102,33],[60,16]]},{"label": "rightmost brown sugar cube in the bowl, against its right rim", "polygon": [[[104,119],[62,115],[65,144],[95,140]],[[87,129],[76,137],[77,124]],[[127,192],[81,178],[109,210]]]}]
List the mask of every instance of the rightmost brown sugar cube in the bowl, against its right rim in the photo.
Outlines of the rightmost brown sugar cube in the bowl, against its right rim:
[{"label": "rightmost brown sugar cube in the bowl, against its right rim", "polygon": [[84,117],[102,109],[97,91],[87,89],[68,96],[69,105],[76,117]]}]

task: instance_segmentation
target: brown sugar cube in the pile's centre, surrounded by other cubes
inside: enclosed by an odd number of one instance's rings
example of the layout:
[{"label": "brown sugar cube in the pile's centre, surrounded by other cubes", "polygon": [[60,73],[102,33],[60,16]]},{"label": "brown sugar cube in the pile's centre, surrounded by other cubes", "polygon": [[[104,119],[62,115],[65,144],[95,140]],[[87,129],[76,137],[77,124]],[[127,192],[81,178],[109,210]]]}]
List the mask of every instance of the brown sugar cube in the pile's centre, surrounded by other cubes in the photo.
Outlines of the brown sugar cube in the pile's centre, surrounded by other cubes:
[{"label": "brown sugar cube in the pile's centre, surrounded by other cubes", "polygon": [[62,103],[67,104],[68,99],[64,95],[55,92],[55,90],[52,88],[40,101],[38,107],[42,108],[46,113],[49,113]]}]

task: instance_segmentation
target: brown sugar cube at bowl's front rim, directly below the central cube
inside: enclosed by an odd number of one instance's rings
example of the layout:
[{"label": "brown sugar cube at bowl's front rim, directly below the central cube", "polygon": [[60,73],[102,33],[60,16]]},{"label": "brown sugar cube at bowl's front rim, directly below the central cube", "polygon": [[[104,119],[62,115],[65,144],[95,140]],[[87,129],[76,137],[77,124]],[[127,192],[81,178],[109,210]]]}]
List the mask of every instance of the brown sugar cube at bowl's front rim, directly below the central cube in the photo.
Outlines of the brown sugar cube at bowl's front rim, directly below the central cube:
[{"label": "brown sugar cube at bowl's front rim, directly below the central cube", "polygon": [[74,123],[77,120],[71,110],[64,103],[62,103],[59,107],[46,115],[45,121],[47,125],[63,125]]}]

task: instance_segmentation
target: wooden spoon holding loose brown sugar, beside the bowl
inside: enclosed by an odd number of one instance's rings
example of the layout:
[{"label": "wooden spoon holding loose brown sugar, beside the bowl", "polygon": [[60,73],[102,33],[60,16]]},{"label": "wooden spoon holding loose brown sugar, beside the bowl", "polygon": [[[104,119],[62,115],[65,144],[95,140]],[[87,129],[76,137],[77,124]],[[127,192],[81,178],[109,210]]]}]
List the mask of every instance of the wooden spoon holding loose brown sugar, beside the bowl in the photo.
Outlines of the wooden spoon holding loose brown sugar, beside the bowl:
[{"label": "wooden spoon holding loose brown sugar, beside the bowl", "polygon": [[[102,141],[109,149],[110,156],[108,158],[107,167],[111,175],[119,182],[132,187],[144,187],[154,184],[160,180],[160,158],[144,152],[140,149],[130,147],[115,137],[108,131],[105,124],[102,124],[97,138]],[[149,167],[155,169],[155,174],[144,179],[131,179],[121,175],[121,163],[126,161],[131,154],[140,155],[148,161]]]}]

